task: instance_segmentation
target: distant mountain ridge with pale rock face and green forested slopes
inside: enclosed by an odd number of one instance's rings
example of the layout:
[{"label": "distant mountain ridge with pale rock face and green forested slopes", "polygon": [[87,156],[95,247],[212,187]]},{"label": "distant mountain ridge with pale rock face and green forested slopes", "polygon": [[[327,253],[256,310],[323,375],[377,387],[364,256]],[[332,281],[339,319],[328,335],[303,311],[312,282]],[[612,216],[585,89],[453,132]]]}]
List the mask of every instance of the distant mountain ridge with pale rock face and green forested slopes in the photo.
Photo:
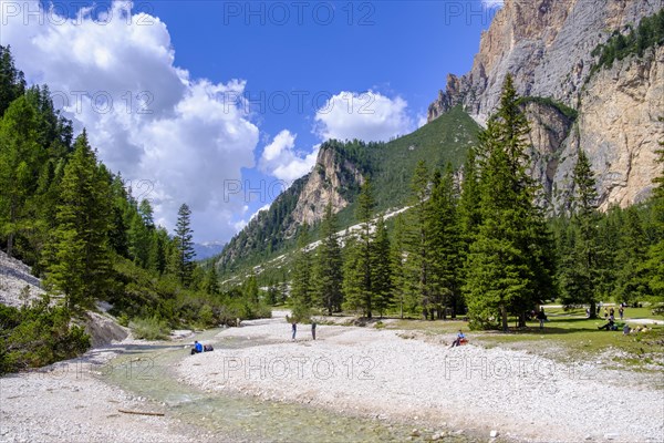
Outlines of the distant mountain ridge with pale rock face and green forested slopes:
[{"label": "distant mountain ridge with pale rock face and green forested slopes", "polygon": [[[332,203],[341,229],[353,225],[360,187],[371,176],[376,212],[390,212],[408,204],[409,183],[417,162],[459,167],[468,147],[477,142],[480,127],[460,107],[412,134],[388,143],[328,141],[317,164],[280,194],[236,235],[216,259],[224,276],[242,267],[259,265],[294,247],[298,229],[315,225]],[[313,238],[315,239],[315,231]]]}]

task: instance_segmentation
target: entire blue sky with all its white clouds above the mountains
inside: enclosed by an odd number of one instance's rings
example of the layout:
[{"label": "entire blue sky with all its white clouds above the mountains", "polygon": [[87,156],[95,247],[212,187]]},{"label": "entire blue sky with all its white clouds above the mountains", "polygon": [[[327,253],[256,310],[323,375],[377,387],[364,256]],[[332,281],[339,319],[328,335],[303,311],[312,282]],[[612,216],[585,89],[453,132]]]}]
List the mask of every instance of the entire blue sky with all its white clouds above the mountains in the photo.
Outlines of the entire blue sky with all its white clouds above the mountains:
[{"label": "entire blue sky with all its white clouds above the mountains", "polygon": [[0,0],[0,43],[162,224],[187,202],[198,241],[227,241],[325,140],[415,130],[447,73],[470,69],[499,7],[39,3]]}]

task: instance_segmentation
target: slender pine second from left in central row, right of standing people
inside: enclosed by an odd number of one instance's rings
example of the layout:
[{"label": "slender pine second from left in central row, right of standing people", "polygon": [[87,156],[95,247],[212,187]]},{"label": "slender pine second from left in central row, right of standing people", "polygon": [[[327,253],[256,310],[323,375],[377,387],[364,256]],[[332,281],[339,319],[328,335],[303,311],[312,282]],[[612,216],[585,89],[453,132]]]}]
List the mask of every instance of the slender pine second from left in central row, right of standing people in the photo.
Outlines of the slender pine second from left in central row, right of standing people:
[{"label": "slender pine second from left in central row, right of standing people", "polygon": [[321,245],[317,249],[315,292],[317,299],[328,310],[328,315],[341,310],[343,280],[341,246],[336,238],[336,217],[330,202],[321,225]]}]

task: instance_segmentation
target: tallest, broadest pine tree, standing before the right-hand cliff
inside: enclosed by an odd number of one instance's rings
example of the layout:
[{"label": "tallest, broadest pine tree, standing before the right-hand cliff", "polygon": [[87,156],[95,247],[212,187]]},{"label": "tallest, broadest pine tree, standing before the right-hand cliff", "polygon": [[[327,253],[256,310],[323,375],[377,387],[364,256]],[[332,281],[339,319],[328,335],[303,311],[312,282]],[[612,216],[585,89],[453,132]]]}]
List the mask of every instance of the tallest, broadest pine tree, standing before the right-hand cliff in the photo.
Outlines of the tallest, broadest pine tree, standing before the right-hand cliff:
[{"label": "tallest, broadest pine tree, standing before the right-hand cliff", "polygon": [[[500,106],[480,135],[481,225],[466,262],[465,292],[475,326],[507,330],[508,315],[541,302],[550,282],[550,247],[543,216],[533,204],[536,187],[527,173],[526,116],[510,75]],[[549,285],[550,286],[550,285]]]}]

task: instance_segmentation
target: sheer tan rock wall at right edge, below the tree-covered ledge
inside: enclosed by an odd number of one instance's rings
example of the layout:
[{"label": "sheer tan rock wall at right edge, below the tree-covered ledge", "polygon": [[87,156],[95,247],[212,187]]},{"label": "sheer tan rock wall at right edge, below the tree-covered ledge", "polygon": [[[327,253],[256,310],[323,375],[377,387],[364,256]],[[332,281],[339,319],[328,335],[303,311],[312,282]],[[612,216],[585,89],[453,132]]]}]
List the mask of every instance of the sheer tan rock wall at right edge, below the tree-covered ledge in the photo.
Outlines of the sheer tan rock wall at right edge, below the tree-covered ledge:
[{"label": "sheer tan rock wall at right edge, below the tree-covered ledge", "polygon": [[[577,147],[589,155],[601,208],[629,206],[646,198],[661,171],[655,151],[664,140],[664,48],[643,59],[626,59],[593,76],[581,96],[579,131],[566,142],[554,182],[561,205],[571,184]],[[567,186],[566,186],[567,185]]]}]

